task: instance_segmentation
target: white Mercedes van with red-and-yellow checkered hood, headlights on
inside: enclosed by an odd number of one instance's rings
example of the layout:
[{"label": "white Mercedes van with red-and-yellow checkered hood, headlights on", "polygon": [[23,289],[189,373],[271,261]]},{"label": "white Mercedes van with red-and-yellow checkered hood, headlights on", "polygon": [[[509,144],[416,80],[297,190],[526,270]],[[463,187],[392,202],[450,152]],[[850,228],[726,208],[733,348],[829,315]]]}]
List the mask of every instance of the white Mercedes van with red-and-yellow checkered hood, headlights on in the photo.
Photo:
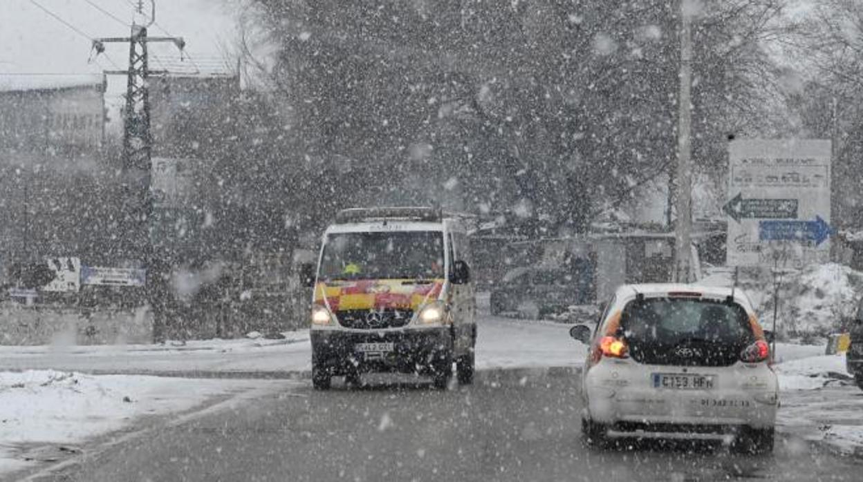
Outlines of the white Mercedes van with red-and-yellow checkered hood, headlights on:
[{"label": "white Mercedes van with red-and-yellow checkered hood, headlights on", "polygon": [[[340,211],[324,232],[312,295],[312,382],[362,372],[474,373],[476,300],[467,231],[431,208]],[[310,277],[311,278],[311,277]],[[311,280],[311,279],[309,279]]]}]

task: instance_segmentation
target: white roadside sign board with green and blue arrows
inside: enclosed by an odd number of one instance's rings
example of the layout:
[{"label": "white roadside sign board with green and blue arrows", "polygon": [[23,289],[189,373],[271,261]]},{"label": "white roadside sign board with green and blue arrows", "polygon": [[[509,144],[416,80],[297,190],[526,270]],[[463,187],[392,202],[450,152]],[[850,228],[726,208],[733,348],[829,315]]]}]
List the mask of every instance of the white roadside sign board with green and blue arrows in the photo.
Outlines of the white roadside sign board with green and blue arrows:
[{"label": "white roadside sign board with green and blue arrows", "polygon": [[729,266],[828,261],[830,141],[732,141],[728,172]]}]

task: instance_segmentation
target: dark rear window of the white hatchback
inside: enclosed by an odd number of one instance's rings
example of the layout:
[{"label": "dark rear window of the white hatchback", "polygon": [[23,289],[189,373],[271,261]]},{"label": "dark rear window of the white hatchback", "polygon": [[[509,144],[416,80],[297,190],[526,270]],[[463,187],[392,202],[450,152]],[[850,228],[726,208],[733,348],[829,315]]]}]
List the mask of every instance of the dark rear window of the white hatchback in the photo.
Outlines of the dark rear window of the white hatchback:
[{"label": "dark rear window of the white hatchback", "polygon": [[753,338],[739,304],[687,298],[650,298],[627,305],[620,320],[630,341],[739,343]]}]

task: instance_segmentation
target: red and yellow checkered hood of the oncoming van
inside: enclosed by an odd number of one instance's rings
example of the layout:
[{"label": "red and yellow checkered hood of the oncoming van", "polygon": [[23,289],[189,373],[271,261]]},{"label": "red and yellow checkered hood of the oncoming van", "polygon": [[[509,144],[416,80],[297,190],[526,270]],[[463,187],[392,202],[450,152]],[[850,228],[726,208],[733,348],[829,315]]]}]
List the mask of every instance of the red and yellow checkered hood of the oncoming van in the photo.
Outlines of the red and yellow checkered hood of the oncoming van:
[{"label": "red and yellow checkered hood of the oncoming van", "polygon": [[422,282],[414,279],[321,282],[315,285],[314,302],[329,306],[332,311],[418,310],[426,301],[437,299],[443,288],[443,279]]}]

